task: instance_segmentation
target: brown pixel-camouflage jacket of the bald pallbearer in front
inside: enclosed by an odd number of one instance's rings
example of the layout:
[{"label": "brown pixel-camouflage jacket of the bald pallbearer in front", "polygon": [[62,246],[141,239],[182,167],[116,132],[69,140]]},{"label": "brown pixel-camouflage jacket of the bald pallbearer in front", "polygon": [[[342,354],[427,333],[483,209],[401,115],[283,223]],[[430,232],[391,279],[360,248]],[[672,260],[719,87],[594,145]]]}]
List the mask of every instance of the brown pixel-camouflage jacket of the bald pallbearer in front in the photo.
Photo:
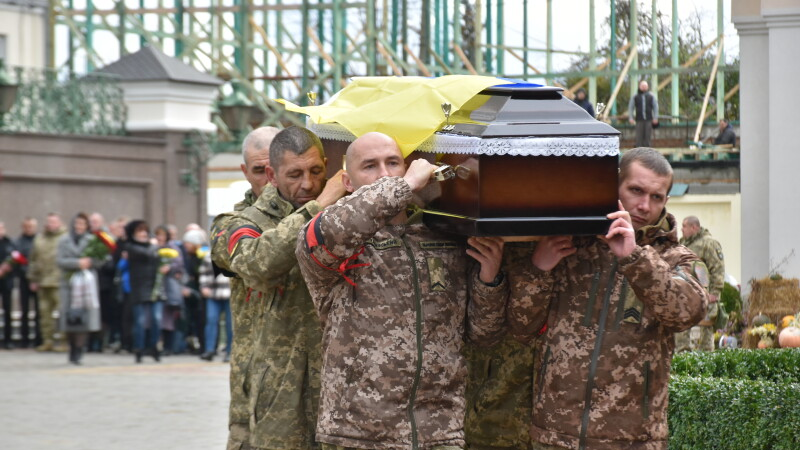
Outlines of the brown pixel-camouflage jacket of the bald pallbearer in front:
[{"label": "brown pixel-camouflage jacket of the bald pallbearer in front", "polygon": [[411,199],[405,180],[382,178],[301,233],[297,259],[324,326],[320,442],[464,445],[464,337],[499,337],[507,283],[481,283],[460,239],[415,218],[388,224]]}]

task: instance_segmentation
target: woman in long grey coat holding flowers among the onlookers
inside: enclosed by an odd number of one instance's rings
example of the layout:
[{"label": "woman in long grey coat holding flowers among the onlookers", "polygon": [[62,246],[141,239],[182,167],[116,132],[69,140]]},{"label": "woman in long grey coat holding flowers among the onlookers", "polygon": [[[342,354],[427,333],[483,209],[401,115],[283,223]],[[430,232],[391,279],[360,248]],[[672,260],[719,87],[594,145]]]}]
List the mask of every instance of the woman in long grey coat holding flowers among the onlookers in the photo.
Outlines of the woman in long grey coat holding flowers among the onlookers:
[{"label": "woman in long grey coat holding flowers among the onlookers", "polygon": [[80,364],[89,333],[99,331],[101,327],[96,269],[103,261],[85,256],[91,240],[89,218],[78,213],[72,219],[69,233],[59,239],[56,249],[56,263],[61,269],[58,324],[66,334],[69,361],[73,364]]}]

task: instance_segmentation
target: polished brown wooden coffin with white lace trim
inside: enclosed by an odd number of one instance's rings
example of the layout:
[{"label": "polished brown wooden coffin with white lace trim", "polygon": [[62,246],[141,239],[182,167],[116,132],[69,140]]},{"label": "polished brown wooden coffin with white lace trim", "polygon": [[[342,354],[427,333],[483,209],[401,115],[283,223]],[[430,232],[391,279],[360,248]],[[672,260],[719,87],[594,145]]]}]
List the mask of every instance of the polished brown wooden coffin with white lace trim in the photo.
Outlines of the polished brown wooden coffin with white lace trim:
[{"label": "polished brown wooden coffin with white lace trim", "polygon": [[[423,220],[472,236],[605,234],[618,209],[619,131],[598,122],[560,88],[502,85],[482,91],[464,123],[445,125],[409,159],[452,167],[427,193]],[[329,171],[348,141],[336,124],[310,124]]]}]

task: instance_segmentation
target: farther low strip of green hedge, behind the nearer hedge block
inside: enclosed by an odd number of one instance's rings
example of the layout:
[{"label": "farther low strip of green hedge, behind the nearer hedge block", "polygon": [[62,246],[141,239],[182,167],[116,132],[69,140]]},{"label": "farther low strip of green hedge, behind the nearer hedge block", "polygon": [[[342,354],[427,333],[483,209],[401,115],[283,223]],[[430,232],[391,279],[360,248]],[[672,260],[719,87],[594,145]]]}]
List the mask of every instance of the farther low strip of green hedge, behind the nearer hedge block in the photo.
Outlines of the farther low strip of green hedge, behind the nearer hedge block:
[{"label": "farther low strip of green hedge, behind the nearer hedge block", "polygon": [[[800,349],[683,352],[672,358],[672,373],[698,377],[800,383]],[[800,404],[797,408],[800,413]],[[800,444],[797,448],[800,448]]]}]

